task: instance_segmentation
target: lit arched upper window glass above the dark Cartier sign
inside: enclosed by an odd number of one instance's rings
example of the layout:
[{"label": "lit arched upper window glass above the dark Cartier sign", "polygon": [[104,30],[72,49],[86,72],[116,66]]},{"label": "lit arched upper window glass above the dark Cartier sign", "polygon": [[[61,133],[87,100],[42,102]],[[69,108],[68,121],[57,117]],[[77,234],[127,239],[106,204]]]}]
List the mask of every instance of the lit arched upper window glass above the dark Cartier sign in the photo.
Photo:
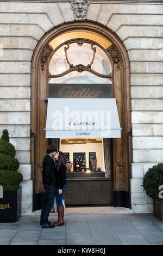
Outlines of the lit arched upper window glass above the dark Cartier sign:
[{"label": "lit arched upper window glass above the dark Cartier sign", "polygon": [[[104,48],[108,48],[111,45],[111,42],[105,39],[104,36],[91,31],[73,31],[61,34],[57,36],[57,38],[53,39],[49,45],[55,49],[60,44],[74,38],[90,39],[102,45]],[[65,57],[64,47],[65,45],[62,45],[52,56],[52,59],[49,63],[49,72],[51,75],[61,74],[70,68]],[[91,65],[91,69],[100,74],[109,75],[111,73],[111,63],[109,61],[108,55],[102,50],[101,47],[97,45],[95,45],[95,47],[96,54],[95,59],[93,60],[93,64]],[[79,46],[77,42],[74,42],[70,44],[70,48],[67,50],[68,61],[74,66],[78,64],[83,64],[86,66],[91,63],[92,57],[93,51],[91,44],[87,42],[84,42],[82,46]],[[73,71],[63,77],[51,78],[49,83],[111,84],[111,81],[109,78],[93,75],[89,71],[83,71],[82,73]]]}]

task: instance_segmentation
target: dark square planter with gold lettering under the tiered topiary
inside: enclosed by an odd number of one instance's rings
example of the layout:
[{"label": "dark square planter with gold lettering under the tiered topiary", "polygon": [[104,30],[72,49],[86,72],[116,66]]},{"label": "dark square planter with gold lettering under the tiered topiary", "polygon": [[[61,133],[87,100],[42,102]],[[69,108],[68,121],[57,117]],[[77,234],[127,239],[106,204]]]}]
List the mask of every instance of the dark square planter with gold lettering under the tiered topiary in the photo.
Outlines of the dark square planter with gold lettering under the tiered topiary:
[{"label": "dark square planter with gold lettering under the tiered topiary", "polygon": [[0,198],[0,222],[16,222],[21,216],[22,188],[4,190]]}]

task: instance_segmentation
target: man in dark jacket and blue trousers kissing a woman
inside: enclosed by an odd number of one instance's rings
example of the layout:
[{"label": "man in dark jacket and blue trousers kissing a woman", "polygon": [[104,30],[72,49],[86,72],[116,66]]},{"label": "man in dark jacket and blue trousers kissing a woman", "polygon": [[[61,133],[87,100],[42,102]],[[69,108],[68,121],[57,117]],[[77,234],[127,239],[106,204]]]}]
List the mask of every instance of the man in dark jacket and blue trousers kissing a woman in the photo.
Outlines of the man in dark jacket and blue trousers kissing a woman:
[{"label": "man in dark jacket and blue trousers kissing a woman", "polygon": [[43,203],[40,225],[42,228],[54,228],[48,221],[48,216],[54,203],[54,196],[57,190],[57,181],[55,177],[55,165],[53,156],[57,153],[57,148],[49,145],[46,150],[46,156],[43,159],[42,181],[45,188],[45,202]]}]

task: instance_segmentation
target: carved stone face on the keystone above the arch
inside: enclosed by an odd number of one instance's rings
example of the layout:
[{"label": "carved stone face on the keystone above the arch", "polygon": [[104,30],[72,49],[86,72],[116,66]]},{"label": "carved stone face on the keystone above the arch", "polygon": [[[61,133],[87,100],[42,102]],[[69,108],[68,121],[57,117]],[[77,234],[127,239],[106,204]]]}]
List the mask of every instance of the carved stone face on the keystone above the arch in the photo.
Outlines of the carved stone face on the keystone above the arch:
[{"label": "carved stone face on the keystone above the arch", "polygon": [[87,9],[90,6],[90,0],[70,0],[71,8],[76,19],[83,19],[86,17]]}]

